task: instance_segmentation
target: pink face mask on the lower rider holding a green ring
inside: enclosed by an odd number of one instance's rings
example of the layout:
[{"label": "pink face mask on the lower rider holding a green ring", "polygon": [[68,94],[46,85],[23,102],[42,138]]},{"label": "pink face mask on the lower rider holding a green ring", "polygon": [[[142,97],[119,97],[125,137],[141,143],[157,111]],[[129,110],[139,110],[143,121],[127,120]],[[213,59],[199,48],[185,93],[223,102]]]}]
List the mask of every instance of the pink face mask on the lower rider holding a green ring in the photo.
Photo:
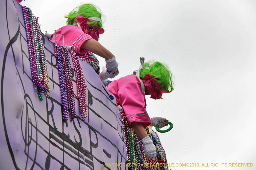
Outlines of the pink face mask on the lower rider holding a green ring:
[{"label": "pink face mask on the lower rider holding a green ring", "polygon": [[164,91],[163,88],[161,88],[161,86],[156,82],[156,78],[151,74],[145,75],[143,78],[143,83],[148,88],[148,90],[145,90],[145,94],[151,95],[150,98],[152,99],[160,99],[163,93],[169,92],[169,90],[167,92]]}]

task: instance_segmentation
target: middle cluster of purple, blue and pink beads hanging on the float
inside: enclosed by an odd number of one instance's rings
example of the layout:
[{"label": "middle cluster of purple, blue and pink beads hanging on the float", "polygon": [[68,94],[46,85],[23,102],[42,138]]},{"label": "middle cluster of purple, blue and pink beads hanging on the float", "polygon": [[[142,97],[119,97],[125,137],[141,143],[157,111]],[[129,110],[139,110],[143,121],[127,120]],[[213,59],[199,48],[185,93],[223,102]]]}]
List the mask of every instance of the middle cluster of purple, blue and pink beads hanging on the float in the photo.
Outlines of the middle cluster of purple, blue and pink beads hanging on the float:
[{"label": "middle cluster of purple, blue and pink beads hanging on the float", "polygon": [[76,87],[77,95],[74,93],[73,79],[71,72],[71,63],[69,57],[69,51],[64,46],[55,45],[54,47],[55,56],[57,58],[57,66],[59,71],[60,80],[60,92],[62,101],[62,112],[63,120],[68,120],[68,113],[70,121],[72,122],[76,118],[75,110],[75,97],[79,100],[79,112],[81,118],[84,121],[87,117],[86,108],[86,84],[84,73],[81,68],[80,62],[76,53],[71,52],[71,58],[74,65],[75,76],[76,76]]}]

